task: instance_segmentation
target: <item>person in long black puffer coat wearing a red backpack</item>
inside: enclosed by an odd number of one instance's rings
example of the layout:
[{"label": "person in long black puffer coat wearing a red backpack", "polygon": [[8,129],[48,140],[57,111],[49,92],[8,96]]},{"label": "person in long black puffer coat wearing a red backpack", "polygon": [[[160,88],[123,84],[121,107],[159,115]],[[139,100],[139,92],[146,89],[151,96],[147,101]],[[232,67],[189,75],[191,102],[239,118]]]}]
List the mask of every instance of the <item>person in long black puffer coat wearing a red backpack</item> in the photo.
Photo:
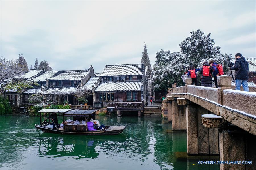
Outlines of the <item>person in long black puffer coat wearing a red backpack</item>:
[{"label": "person in long black puffer coat wearing a red backpack", "polygon": [[212,69],[210,64],[208,64],[206,61],[203,63],[203,67],[199,71],[199,74],[201,74],[201,86],[204,87],[212,87],[212,75],[211,75]]}]

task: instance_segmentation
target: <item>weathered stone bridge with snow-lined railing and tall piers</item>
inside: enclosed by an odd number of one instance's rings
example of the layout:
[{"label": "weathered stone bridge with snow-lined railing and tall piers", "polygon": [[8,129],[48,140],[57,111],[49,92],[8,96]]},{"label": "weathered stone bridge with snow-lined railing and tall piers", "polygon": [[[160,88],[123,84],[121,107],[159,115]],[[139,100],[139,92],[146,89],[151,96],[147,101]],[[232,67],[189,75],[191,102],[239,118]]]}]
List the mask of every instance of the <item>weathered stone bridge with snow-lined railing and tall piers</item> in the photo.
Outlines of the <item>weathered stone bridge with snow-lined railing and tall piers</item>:
[{"label": "weathered stone bridge with snow-lined railing and tall piers", "polygon": [[187,131],[187,154],[253,163],[220,169],[256,169],[256,93],[232,90],[230,76],[218,76],[219,88],[185,84],[168,90],[162,112],[173,131]]}]

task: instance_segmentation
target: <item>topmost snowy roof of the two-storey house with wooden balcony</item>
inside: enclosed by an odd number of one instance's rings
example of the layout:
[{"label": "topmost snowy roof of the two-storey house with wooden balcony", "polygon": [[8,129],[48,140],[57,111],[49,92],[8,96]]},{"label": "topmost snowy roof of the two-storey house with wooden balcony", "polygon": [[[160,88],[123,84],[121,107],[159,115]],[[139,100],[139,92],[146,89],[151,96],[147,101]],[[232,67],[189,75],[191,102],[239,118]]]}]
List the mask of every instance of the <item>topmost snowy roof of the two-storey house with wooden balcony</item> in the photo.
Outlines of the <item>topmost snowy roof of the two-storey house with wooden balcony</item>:
[{"label": "topmost snowy roof of the two-storey house with wooden balcony", "polygon": [[144,64],[106,65],[99,76],[143,75]]}]

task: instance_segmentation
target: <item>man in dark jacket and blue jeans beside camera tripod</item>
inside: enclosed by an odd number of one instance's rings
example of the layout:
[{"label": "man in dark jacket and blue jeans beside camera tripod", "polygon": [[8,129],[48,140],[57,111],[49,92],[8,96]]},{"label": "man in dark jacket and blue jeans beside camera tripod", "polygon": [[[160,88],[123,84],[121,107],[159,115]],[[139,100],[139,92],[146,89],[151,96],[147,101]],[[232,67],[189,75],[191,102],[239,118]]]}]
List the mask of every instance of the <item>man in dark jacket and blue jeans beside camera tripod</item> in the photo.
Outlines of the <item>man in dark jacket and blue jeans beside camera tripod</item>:
[{"label": "man in dark jacket and blue jeans beside camera tripod", "polygon": [[235,70],[235,79],[236,79],[236,89],[240,90],[240,86],[242,84],[243,90],[249,92],[249,87],[247,84],[248,81],[248,71],[249,64],[242,56],[241,53],[237,53],[235,55],[236,62],[233,67],[230,67],[230,70]]}]

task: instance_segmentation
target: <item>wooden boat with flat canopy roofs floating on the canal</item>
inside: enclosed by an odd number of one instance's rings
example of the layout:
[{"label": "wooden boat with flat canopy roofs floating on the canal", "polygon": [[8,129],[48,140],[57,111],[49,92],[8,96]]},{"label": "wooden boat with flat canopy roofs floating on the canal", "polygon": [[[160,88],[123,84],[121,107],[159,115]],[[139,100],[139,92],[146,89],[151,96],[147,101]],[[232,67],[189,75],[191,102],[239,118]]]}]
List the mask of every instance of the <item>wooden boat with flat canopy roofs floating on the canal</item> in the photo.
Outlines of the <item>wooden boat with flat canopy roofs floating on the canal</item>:
[{"label": "wooden boat with flat canopy roofs floating on the canal", "polygon": [[[40,129],[45,133],[55,134],[70,134],[70,135],[117,135],[126,128],[126,126],[106,126],[104,130],[89,131],[87,124],[91,119],[95,120],[95,112],[97,110],[78,110],[78,109],[42,109],[38,111],[40,113],[40,125],[36,124],[35,128]],[[65,125],[61,128],[53,129],[52,123],[42,122],[41,113],[60,113],[63,116],[63,124],[65,117],[73,117],[73,120],[84,120],[85,125]]]}]

